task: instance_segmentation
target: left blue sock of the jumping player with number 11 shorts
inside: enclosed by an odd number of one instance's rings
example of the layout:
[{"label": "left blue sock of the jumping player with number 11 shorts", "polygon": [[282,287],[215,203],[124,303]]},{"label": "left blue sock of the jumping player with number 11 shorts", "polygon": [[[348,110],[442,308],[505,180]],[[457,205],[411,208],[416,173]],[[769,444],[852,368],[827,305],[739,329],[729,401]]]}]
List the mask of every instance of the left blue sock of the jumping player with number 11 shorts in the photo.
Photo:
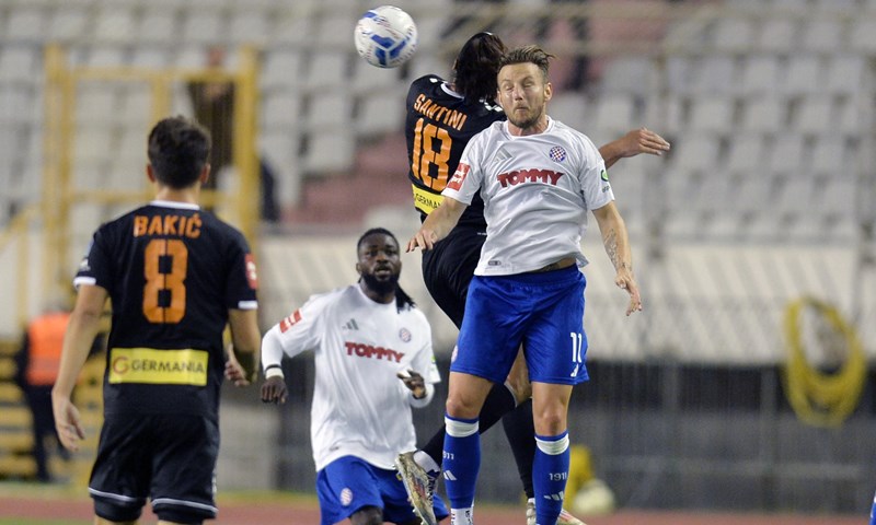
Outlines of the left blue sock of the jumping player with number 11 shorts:
[{"label": "left blue sock of the jumping player with number 11 shorts", "polygon": [[474,486],[481,469],[481,434],[477,419],[454,419],[445,415],[443,463],[445,489],[452,509],[474,504]]}]

